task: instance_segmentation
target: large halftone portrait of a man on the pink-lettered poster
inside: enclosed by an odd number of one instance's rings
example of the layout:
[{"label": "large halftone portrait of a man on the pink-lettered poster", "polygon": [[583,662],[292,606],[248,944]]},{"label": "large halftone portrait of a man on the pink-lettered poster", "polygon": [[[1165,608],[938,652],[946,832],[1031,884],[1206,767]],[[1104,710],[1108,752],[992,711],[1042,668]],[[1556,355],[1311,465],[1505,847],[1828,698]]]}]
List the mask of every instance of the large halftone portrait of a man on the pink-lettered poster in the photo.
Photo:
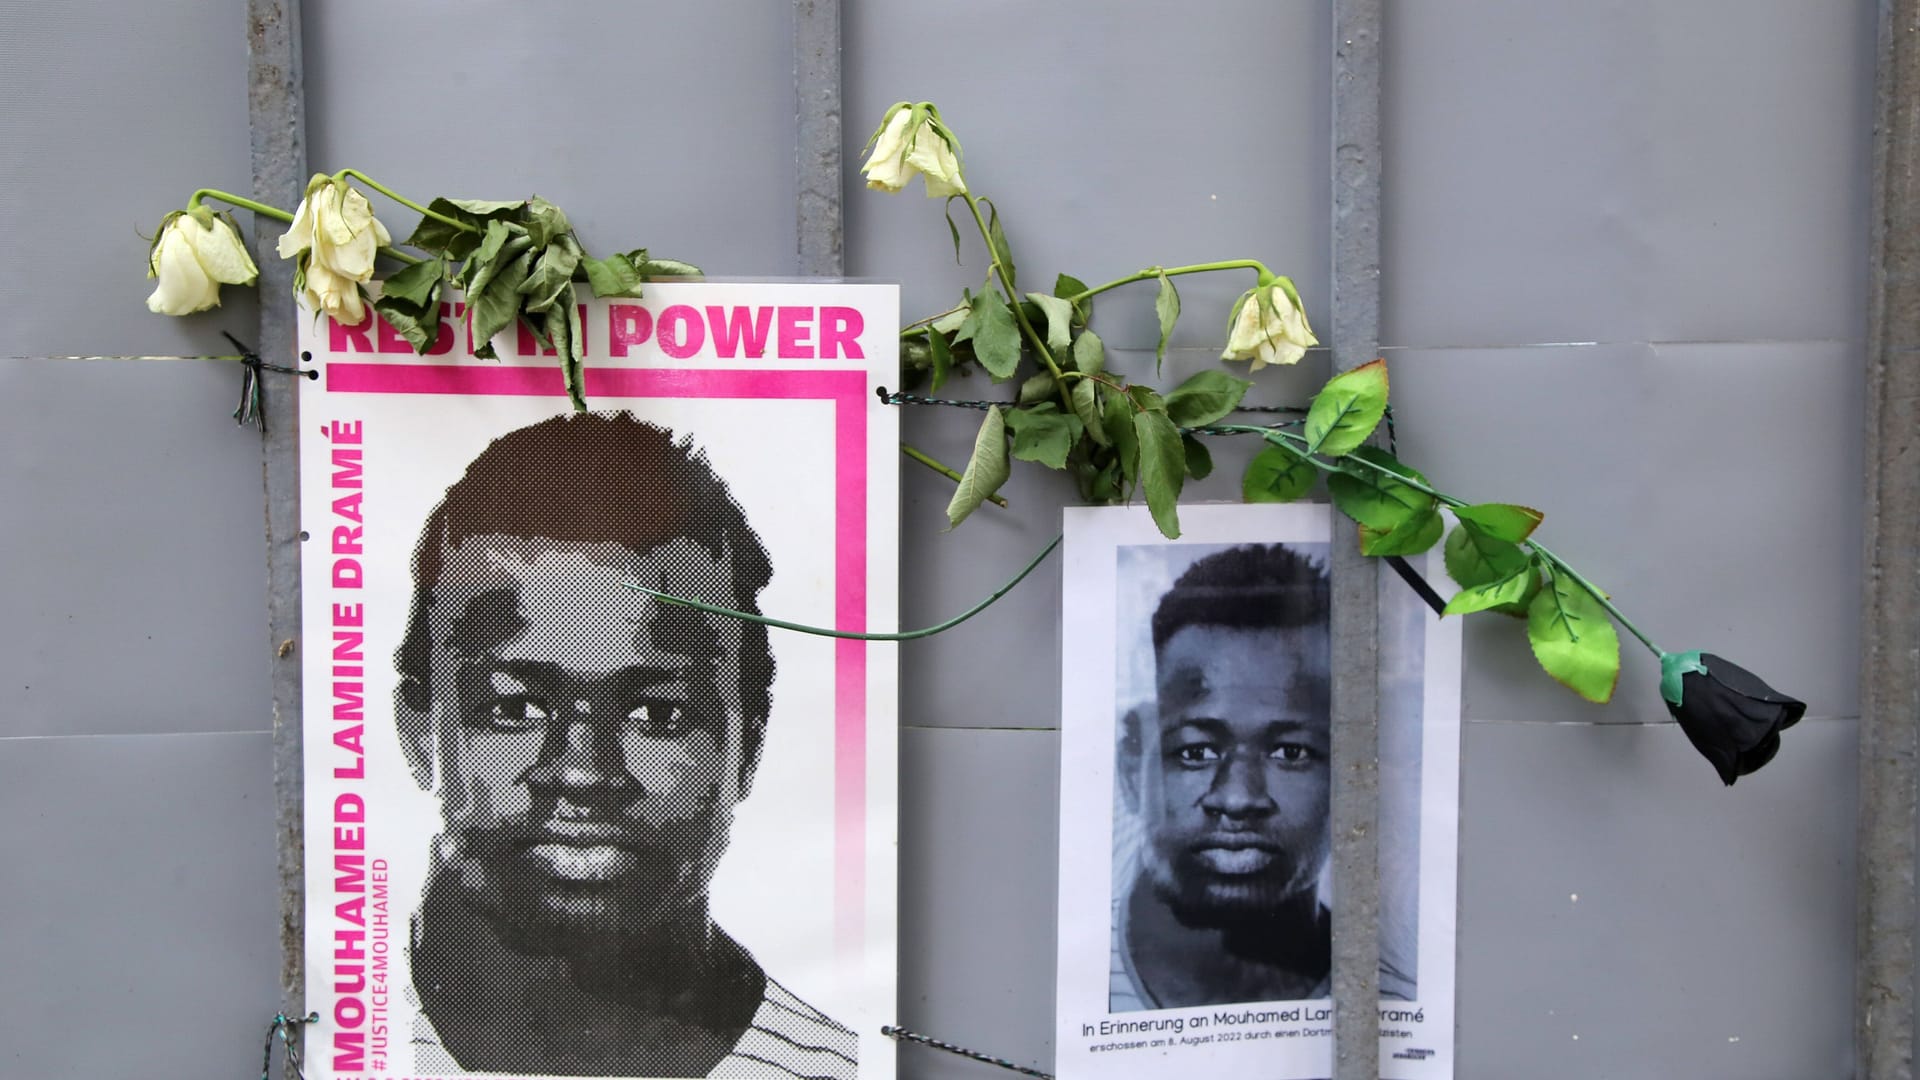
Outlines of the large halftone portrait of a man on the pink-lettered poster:
[{"label": "large halftone portrait of a man on the pink-lettered poster", "polygon": [[708,913],[766,738],[766,628],[626,588],[758,611],[770,577],[705,454],[628,413],[509,432],[447,488],[396,655],[442,819],[415,1072],[854,1076],[854,1034]]}]

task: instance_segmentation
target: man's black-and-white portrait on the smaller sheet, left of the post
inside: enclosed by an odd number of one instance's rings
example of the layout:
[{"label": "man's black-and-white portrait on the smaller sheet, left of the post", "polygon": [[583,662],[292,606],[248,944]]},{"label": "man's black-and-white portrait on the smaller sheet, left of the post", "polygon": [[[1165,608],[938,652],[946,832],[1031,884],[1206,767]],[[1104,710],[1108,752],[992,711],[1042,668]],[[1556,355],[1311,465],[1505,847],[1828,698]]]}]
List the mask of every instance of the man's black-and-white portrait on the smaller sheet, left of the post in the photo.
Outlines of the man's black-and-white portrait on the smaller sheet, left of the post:
[{"label": "man's black-and-white portrait on the smaller sheet, left of the post", "polygon": [[[1284,544],[1212,552],[1152,603],[1150,642],[1150,700],[1121,701],[1117,730],[1135,838],[1108,1011],[1327,997],[1327,569]],[[1380,992],[1411,982],[1382,965]]]}]

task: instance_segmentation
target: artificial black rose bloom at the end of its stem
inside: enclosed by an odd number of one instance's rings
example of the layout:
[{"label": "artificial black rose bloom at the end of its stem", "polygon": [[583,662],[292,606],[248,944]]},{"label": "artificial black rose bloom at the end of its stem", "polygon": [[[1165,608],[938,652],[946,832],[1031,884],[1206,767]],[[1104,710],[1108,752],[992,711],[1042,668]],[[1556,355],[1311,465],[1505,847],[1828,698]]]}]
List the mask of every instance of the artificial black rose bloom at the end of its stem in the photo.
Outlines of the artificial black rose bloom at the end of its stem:
[{"label": "artificial black rose bloom at the end of its stem", "polygon": [[1780,732],[1807,711],[1803,701],[1713,653],[1661,653],[1661,698],[1728,786],[1772,761]]}]

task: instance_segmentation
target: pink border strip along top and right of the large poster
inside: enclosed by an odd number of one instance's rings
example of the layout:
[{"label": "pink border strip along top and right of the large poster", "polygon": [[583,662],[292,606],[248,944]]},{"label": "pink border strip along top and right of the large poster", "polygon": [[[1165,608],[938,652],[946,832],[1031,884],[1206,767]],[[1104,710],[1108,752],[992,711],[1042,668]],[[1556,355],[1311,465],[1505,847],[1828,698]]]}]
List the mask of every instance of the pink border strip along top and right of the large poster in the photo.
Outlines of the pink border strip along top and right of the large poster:
[{"label": "pink border strip along top and right of the large poster", "polygon": [[[589,400],[755,398],[833,402],[833,628],[866,630],[866,371],[586,369]],[[553,365],[326,363],[328,394],[541,396]],[[860,953],[866,926],[866,642],[833,642],[833,945]]]}]

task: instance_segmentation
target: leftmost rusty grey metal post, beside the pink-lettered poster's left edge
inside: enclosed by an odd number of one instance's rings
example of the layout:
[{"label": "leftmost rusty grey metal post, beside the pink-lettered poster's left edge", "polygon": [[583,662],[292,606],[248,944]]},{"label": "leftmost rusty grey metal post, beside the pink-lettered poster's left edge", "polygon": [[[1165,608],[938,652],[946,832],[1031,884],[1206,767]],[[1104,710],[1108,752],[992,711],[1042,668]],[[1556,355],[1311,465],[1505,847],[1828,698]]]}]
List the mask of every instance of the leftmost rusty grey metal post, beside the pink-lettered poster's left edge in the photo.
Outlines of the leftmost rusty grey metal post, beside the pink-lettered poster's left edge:
[{"label": "leftmost rusty grey metal post, beside the pink-lettered poster's left edge", "polygon": [[[292,208],[307,183],[307,108],[300,67],[300,0],[248,0],[248,131],[253,198]],[[259,342],[269,363],[294,365],[294,267],[276,258],[278,223],[253,219],[259,263]],[[301,765],[300,765],[300,392],[265,379],[267,657],[273,665],[273,796],[280,849],[280,999],[305,1011]]]}]

